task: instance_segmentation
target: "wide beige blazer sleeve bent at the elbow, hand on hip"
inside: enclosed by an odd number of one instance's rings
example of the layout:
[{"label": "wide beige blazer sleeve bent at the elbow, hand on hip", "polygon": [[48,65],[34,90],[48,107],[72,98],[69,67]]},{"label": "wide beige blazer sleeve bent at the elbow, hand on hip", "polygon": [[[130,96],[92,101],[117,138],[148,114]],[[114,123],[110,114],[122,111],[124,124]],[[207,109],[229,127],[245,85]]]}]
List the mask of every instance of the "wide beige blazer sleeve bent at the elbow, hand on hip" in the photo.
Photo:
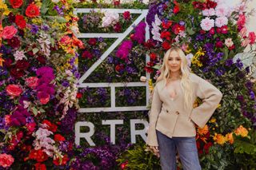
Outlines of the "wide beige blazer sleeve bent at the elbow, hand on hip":
[{"label": "wide beige blazer sleeve bent at the elbow, hand on hip", "polygon": [[214,113],[214,110],[217,109],[218,103],[222,99],[222,93],[210,82],[198,77],[196,95],[202,99],[202,104],[192,109],[190,119],[200,128],[203,128]]}]

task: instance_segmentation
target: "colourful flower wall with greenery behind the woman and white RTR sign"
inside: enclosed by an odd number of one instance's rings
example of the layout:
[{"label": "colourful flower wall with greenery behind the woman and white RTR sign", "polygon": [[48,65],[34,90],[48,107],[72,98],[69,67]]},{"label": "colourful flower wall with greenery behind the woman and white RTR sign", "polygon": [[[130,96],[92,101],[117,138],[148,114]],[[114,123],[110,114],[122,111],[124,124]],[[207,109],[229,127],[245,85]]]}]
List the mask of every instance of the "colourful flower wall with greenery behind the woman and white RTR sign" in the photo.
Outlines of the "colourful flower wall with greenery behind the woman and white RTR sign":
[{"label": "colourful flower wall with greenery behind the woman and white RTR sign", "polygon": [[[256,167],[256,35],[246,29],[252,14],[246,13],[246,1],[229,8],[218,0],[155,0],[150,6],[118,0],[8,0],[0,3],[0,169],[160,169],[142,138],[130,144],[129,120],[147,119],[147,111],[78,113],[79,105],[110,106],[110,88],[78,88],[77,81],[114,39],[75,35],[122,33],[138,14],[91,11],[74,16],[74,7],[149,9],[146,20],[134,26],[86,82],[141,80],[152,91],[163,53],[180,45],[192,71],[223,93],[214,116],[197,128],[202,168]],[[150,39],[145,42],[146,24]],[[142,77],[146,72],[150,80]],[[143,87],[117,88],[116,95],[117,106],[146,105]],[[194,107],[200,103],[198,98]],[[115,145],[110,144],[110,128],[101,124],[106,119],[124,120],[117,125]],[[85,140],[74,144],[76,121],[94,122],[96,147]]]}]

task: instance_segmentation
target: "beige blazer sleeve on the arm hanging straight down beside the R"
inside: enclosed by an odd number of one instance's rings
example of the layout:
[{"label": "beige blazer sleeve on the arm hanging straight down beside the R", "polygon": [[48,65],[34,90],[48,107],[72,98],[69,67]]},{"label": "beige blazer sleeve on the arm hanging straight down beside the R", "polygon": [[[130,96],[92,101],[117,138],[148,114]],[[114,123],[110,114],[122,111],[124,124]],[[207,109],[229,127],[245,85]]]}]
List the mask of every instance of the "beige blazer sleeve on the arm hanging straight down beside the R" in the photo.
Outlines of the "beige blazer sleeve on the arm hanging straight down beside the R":
[{"label": "beige blazer sleeve on the arm hanging straight down beside the R", "polygon": [[158,139],[156,134],[156,123],[158,121],[158,115],[161,112],[162,101],[160,100],[158,88],[154,87],[153,98],[150,109],[150,125],[147,132],[146,144],[150,146],[158,146]]}]

